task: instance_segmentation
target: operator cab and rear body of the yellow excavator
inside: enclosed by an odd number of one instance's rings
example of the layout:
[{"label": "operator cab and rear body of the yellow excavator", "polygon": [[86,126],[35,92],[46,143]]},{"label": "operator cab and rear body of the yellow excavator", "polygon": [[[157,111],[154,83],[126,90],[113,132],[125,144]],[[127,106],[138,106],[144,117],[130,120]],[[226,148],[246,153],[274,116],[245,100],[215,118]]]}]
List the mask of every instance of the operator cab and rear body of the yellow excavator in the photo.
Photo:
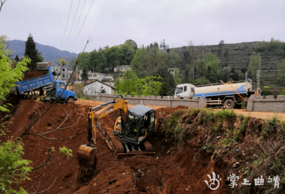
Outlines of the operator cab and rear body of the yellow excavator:
[{"label": "operator cab and rear body of the yellow excavator", "polygon": [[152,108],[134,106],[126,115],[122,141],[138,145],[154,132],[155,125],[155,111]]}]

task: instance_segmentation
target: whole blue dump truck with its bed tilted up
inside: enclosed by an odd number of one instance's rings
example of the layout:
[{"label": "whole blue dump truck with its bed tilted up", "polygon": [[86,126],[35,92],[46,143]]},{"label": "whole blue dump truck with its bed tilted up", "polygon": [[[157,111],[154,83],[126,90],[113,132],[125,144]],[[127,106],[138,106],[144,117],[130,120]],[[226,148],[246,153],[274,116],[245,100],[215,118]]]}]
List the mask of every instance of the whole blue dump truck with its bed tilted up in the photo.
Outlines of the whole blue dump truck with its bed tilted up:
[{"label": "whole blue dump truck with its bed tilted up", "polygon": [[47,72],[47,74],[34,77],[29,80],[16,82],[17,93],[19,93],[23,98],[30,98],[32,92],[35,93],[35,91],[38,91],[40,92],[40,96],[46,93],[45,101],[52,102],[57,100],[57,102],[74,103],[74,101],[77,100],[76,94],[73,91],[66,90],[64,82],[55,82],[50,65],[50,63],[38,63],[37,69]]}]

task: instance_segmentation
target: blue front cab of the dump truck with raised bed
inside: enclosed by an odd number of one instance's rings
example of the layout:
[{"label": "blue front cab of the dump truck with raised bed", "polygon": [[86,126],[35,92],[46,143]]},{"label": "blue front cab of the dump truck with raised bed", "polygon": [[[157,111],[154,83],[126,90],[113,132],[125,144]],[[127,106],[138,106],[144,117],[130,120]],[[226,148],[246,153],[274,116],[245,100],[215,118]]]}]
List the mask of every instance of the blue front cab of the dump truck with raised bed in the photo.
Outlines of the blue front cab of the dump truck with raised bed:
[{"label": "blue front cab of the dump truck with raised bed", "polygon": [[76,101],[76,94],[73,91],[65,89],[65,84],[62,81],[56,81],[54,86],[47,90],[47,98],[46,101],[55,101],[57,98],[57,102],[62,103],[74,103]]}]

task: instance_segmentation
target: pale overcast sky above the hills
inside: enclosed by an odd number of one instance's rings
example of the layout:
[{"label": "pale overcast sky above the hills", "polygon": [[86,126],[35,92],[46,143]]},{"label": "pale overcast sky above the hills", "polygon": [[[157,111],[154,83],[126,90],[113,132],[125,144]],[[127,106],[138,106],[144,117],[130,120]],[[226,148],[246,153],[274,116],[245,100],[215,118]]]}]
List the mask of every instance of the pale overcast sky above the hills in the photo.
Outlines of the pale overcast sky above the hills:
[{"label": "pale overcast sky above the hills", "polygon": [[89,37],[87,52],[128,39],[138,46],[165,39],[172,48],[190,40],[194,45],[284,41],[284,19],[284,0],[8,0],[0,12],[0,35],[26,41],[31,33],[35,42],[76,53]]}]

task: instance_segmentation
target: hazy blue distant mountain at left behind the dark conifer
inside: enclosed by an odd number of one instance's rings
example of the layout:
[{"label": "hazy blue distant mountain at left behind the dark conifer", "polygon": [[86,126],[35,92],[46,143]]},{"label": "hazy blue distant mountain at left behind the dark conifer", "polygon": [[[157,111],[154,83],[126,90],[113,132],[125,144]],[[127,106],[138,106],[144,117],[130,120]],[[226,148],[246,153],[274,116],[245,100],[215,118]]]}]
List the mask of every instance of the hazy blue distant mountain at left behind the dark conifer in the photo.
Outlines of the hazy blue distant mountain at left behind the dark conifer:
[{"label": "hazy blue distant mountain at left behind the dark conifer", "polygon": [[[15,53],[11,53],[12,59],[14,59],[16,55],[18,55],[20,59],[21,57],[23,57],[24,52],[25,52],[25,47],[26,47],[25,41],[12,40],[12,41],[7,42],[7,44],[9,45],[8,47],[9,49],[12,49],[15,51]],[[58,61],[59,57],[64,58],[68,62],[68,64],[70,64],[70,62],[72,62],[72,60],[78,56],[77,53],[71,53],[66,50],[64,51],[59,50],[56,47],[42,45],[39,43],[35,43],[35,48],[38,49],[39,52],[41,52],[42,56],[44,57],[44,62],[50,62],[52,63],[52,65],[55,65],[55,62]],[[69,68],[70,68],[70,65],[69,65]]]}]

